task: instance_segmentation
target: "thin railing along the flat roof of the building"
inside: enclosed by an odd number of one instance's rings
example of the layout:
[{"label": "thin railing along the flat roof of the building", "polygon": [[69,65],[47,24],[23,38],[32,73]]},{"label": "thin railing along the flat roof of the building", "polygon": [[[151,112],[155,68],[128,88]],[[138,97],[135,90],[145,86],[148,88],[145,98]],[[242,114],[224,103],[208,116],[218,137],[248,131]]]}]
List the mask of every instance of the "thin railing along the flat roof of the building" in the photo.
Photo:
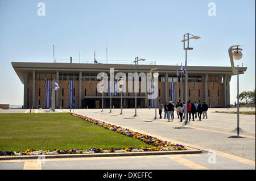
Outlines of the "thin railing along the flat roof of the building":
[{"label": "thin railing along the flat roof of the building", "polygon": [[[125,64],[125,65],[134,65],[134,62],[131,60],[97,60],[101,64]],[[55,63],[70,63],[69,59],[57,58]],[[85,60],[85,59],[72,59],[74,64],[94,64],[94,60]],[[138,65],[156,65],[156,61],[138,61]]]}]

